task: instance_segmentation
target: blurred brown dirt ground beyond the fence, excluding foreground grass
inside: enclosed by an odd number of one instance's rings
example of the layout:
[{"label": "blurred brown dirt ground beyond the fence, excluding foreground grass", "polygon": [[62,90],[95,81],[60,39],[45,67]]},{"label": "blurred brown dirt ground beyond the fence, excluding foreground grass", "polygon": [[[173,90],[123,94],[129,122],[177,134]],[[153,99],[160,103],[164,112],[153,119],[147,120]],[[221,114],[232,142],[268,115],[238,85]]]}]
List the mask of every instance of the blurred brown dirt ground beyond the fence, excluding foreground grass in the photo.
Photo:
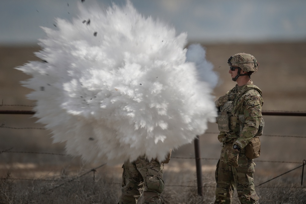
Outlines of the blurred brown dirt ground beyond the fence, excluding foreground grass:
[{"label": "blurred brown dirt ground beyond the fence, excluding foreground grass", "polygon": [[[203,44],[207,51],[207,60],[211,61],[219,74],[219,84],[214,95],[218,98],[235,86],[228,73],[228,58],[239,52],[247,52],[259,61],[259,71],[252,75],[254,84],[263,91],[263,110],[306,111],[306,42],[298,43],[264,43],[264,44]],[[33,52],[37,46],[1,47],[0,46],[0,110],[31,110],[33,101],[25,95],[31,90],[20,85],[21,80],[29,76],[13,69],[27,61],[38,60]],[[24,106],[15,106],[24,105]],[[306,159],[306,117],[264,116],[264,135],[261,137],[261,157],[256,159],[257,184],[266,178],[280,175],[300,165]],[[0,114],[1,142],[0,176],[8,170],[12,177],[38,178],[62,173],[78,172],[82,163],[78,158],[60,155],[17,153],[20,151],[52,152],[65,154],[64,144],[52,144],[50,132],[42,130],[42,125],[35,123],[31,115]],[[29,129],[16,129],[29,128]],[[38,128],[38,129],[35,129]],[[220,154],[220,143],[217,139],[216,124],[209,124],[207,133],[200,136],[202,172],[213,178],[215,165]],[[293,136],[293,137],[288,137]],[[302,136],[304,138],[296,137]],[[175,184],[177,180],[170,176],[187,171],[195,177],[194,144],[187,144],[173,152],[173,159],[165,165],[165,181]],[[265,161],[285,161],[265,162]],[[286,163],[297,162],[297,163]],[[98,166],[91,164],[88,166]],[[86,166],[86,165],[85,165]],[[121,176],[121,166],[104,166],[106,172],[117,178]],[[297,172],[298,171],[298,172]],[[290,176],[300,179],[301,169]],[[168,179],[167,179],[168,175]],[[264,178],[264,179],[263,179]],[[294,180],[294,179],[293,179]],[[190,182],[190,181],[189,181]],[[195,182],[195,180],[192,180]],[[215,185],[213,180],[207,181]],[[178,184],[179,185],[179,184]],[[193,183],[192,185],[196,185]],[[291,184],[290,184],[291,185]],[[304,182],[304,186],[306,182]]]}]

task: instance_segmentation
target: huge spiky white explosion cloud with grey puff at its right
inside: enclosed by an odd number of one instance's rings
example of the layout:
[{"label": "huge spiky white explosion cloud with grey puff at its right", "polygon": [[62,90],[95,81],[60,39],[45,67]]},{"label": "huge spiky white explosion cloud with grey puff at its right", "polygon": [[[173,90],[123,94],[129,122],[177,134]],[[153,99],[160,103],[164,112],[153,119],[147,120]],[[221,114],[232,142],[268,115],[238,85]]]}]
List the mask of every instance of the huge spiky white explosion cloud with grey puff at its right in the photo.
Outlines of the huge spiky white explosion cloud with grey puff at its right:
[{"label": "huge spiky white explosion cloud with grey puff at its right", "polygon": [[217,80],[200,45],[186,59],[186,33],[143,17],[129,1],[80,11],[43,28],[41,62],[16,68],[32,76],[23,84],[34,90],[35,117],[68,154],[109,164],[144,154],[162,161],[215,121]]}]

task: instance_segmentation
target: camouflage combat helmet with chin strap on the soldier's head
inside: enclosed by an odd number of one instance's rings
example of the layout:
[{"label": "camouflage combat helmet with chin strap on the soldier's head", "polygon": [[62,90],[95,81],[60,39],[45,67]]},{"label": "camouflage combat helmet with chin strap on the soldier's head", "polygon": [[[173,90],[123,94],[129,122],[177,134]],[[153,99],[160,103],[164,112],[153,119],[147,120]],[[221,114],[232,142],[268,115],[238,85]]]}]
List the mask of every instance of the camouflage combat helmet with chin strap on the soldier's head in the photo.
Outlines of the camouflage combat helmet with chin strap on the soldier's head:
[{"label": "camouflage combat helmet with chin strap on the soldier's head", "polygon": [[[239,76],[249,75],[251,76],[252,73],[255,73],[258,71],[258,62],[256,58],[248,53],[238,53],[233,56],[231,56],[227,63],[230,66],[237,66],[238,68],[238,74],[235,78],[233,78],[233,81],[236,81]],[[240,74],[240,69],[244,72],[248,72],[246,74]],[[250,77],[251,78],[251,77]]]}]

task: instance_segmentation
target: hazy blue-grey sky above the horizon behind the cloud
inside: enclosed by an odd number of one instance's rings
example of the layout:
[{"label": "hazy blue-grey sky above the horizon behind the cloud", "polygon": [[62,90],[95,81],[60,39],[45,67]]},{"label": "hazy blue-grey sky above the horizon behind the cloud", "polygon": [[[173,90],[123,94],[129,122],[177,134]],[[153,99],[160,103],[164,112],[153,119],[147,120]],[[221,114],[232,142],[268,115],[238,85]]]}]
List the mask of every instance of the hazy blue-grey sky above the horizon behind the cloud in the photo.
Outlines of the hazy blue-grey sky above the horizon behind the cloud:
[{"label": "hazy blue-grey sky above the horizon behind the cloud", "polygon": [[[95,0],[85,0],[91,4]],[[102,9],[111,2],[96,0]],[[1,0],[0,44],[35,44],[54,28],[56,17],[71,20],[81,0]],[[145,17],[187,32],[191,41],[245,42],[306,40],[305,0],[132,0]]]}]

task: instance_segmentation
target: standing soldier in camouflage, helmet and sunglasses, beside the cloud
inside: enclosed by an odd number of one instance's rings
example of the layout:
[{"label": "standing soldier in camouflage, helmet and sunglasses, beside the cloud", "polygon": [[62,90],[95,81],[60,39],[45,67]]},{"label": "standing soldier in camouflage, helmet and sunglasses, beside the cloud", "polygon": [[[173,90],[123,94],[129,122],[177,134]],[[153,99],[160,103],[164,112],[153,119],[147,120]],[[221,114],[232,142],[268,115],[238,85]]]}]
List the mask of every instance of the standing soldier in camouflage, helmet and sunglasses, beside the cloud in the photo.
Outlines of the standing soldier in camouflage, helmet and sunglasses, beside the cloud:
[{"label": "standing soldier in camouflage, helmet and sunglasses, beside the cloud", "polygon": [[254,56],[238,53],[229,58],[228,64],[237,85],[215,102],[219,110],[218,139],[222,143],[215,204],[230,204],[235,189],[241,203],[259,204],[253,179],[255,163],[245,154],[246,145],[259,135],[263,123],[262,92],[250,79],[257,72],[258,63]]}]

